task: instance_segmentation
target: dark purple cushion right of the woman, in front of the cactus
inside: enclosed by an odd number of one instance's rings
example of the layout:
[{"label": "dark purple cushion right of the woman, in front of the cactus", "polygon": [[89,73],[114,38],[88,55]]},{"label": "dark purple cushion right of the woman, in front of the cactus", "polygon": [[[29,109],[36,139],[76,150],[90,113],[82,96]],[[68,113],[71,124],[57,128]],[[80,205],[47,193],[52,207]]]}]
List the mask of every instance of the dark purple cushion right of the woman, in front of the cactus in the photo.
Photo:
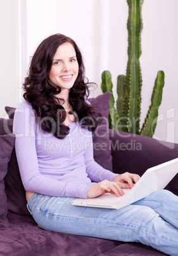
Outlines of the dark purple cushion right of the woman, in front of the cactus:
[{"label": "dark purple cushion right of the woman, in front of the cactus", "polygon": [[94,111],[101,113],[103,121],[93,132],[94,160],[105,169],[113,171],[110,138],[108,136],[108,114],[110,110],[110,92],[89,99]]}]

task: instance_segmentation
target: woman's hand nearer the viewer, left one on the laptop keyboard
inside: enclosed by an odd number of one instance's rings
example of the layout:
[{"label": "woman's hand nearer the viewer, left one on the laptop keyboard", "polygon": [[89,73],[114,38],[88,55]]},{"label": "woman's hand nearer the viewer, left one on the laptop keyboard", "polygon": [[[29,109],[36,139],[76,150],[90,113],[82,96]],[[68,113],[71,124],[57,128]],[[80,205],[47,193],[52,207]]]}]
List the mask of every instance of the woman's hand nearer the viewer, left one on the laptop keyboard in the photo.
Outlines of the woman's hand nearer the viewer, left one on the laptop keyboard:
[{"label": "woman's hand nearer the viewer, left one on the laptop keyboard", "polygon": [[94,185],[91,185],[87,197],[94,198],[108,192],[111,194],[116,194],[118,197],[124,195],[124,191],[120,185],[118,185],[118,182],[103,180]]}]

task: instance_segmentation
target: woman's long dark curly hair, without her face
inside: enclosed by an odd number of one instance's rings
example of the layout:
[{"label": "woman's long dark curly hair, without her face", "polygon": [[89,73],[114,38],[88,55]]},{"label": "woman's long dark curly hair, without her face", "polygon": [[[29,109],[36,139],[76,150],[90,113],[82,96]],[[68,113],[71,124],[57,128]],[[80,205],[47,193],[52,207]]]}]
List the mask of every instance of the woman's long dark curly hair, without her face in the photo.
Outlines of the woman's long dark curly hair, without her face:
[{"label": "woman's long dark curly hair, without her face", "polygon": [[[49,72],[53,64],[54,54],[63,43],[73,45],[79,64],[79,74],[68,96],[72,113],[75,111],[75,120],[79,120],[82,127],[94,131],[98,122],[101,122],[102,119],[101,115],[96,113],[92,106],[86,102],[86,98],[89,96],[88,86],[90,83],[84,76],[85,68],[79,47],[73,39],[63,34],[49,36],[42,41],[32,57],[29,76],[25,78],[23,83],[23,89],[25,90],[23,97],[32,104],[37,122],[41,128],[46,132],[53,132],[54,136],[59,139],[67,136],[70,129],[63,124],[67,113],[60,104],[60,100],[55,96],[61,92],[61,89],[49,83]],[[55,99],[58,104],[56,104]]]}]

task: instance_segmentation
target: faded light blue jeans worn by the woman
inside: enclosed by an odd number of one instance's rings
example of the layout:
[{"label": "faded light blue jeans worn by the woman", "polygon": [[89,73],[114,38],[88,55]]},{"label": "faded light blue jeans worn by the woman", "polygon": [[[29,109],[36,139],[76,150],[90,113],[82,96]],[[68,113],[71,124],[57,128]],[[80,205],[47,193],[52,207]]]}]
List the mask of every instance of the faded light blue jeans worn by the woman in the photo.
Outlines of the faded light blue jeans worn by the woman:
[{"label": "faded light blue jeans worn by the woman", "polygon": [[120,210],[72,206],[73,197],[34,194],[27,207],[49,231],[140,242],[178,255],[178,197],[160,190]]}]

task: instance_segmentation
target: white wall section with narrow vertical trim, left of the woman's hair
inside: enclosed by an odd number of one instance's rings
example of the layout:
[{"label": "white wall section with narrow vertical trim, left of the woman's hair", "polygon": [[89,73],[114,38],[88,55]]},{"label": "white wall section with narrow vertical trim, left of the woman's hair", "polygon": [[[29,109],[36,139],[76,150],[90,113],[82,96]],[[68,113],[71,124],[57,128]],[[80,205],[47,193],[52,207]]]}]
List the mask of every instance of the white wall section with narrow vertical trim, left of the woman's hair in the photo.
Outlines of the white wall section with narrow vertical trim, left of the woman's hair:
[{"label": "white wall section with narrow vertical trim, left of the woman's hair", "polygon": [[8,118],[5,106],[17,106],[22,100],[22,82],[27,72],[26,19],[26,1],[0,0],[0,117],[3,118]]}]

